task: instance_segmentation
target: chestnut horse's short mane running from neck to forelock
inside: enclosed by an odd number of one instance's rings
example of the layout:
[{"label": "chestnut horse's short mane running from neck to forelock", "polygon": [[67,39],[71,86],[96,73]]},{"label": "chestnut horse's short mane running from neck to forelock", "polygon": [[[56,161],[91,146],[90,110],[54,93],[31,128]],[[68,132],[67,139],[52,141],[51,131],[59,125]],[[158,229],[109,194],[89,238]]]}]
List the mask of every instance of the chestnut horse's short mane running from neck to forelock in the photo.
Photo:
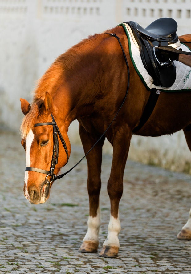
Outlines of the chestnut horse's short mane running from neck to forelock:
[{"label": "chestnut horse's short mane running from neck to forelock", "polygon": [[83,66],[84,55],[95,48],[100,41],[105,37],[105,34],[94,34],[89,36],[87,39],[82,40],[77,45],[68,49],[65,53],[61,54],[55,62],[47,69],[45,74],[39,79],[37,86],[34,91],[33,101],[28,114],[22,120],[21,124],[21,136],[26,138],[30,129],[33,129],[34,124],[39,116],[39,107],[43,103],[45,92],[48,91],[52,96],[56,92],[56,85],[59,80],[70,73],[71,70],[76,69],[76,66]]}]

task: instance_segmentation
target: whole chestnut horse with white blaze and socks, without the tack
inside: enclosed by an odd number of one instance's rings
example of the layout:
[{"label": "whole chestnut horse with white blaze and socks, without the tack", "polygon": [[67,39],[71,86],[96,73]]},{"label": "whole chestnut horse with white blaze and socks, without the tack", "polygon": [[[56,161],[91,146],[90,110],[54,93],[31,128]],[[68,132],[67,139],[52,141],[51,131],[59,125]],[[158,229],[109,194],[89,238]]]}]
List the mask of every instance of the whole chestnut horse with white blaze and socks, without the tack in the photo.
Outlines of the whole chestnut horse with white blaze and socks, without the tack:
[{"label": "whole chestnut horse with white blaze and socks, without the tack", "polygon": [[[79,251],[97,252],[98,249],[102,147],[107,138],[113,146],[108,180],[111,216],[108,235],[99,255],[116,257],[120,247],[119,202],[123,193],[124,168],[132,130],[139,124],[150,91],[145,88],[134,69],[123,27],[116,26],[107,32],[120,37],[129,65],[129,90],[116,119],[86,157],[89,218],[87,233]],[[180,39],[190,41],[191,34]],[[21,99],[21,109],[25,115],[21,126],[21,143],[26,151],[26,167],[34,167],[35,171],[40,169],[42,172],[50,169],[53,153],[52,125],[55,125],[52,117],[67,147],[65,150],[59,139],[60,156],[55,166],[55,175],[70,156],[71,146],[67,131],[75,119],[79,121],[79,134],[84,152],[87,153],[116,115],[124,100],[127,85],[124,55],[117,39],[108,34],[90,36],[60,55],[39,80],[31,106],[25,99]],[[190,100],[191,92],[161,92],[152,115],[136,134],[160,136],[183,129],[191,150]],[[48,181],[49,174],[40,171],[25,171],[24,195],[34,204],[44,203],[49,198],[53,183]],[[178,237],[191,239],[191,216]]]}]

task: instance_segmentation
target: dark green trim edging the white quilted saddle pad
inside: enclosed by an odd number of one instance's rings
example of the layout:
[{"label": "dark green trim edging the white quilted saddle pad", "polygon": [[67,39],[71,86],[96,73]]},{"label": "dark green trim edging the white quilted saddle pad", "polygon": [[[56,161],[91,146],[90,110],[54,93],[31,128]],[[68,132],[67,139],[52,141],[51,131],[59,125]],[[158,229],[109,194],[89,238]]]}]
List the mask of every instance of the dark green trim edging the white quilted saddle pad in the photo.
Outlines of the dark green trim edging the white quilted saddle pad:
[{"label": "dark green trim edging the white quilted saddle pad", "polygon": [[[133,63],[133,66],[134,66],[134,68],[135,68],[137,74],[139,75],[139,77],[140,77],[140,79],[142,80],[142,82],[143,82],[144,86],[146,87],[146,89],[147,89],[148,91],[151,91],[152,88],[149,88],[149,87],[148,87],[147,83],[145,82],[143,76],[140,74],[140,71],[138,70],[138,68],[136,67],[136,64],[135,64],[135,62],[134,62],[134,59],[133,59],[133,56],[132,56],[132,49],[131,49],[131,40],[130,40],[130,37],[129,37],[129,34],[128,34],[128,31],[127,31],[126,26],[124,25],[124,23],[121,23],[121,24],[119,24],[118,26],[123,26],[124,31],[125,31],[125,34],[127,35],[127,38],[128,38],[128,45],[129,45],[129,55],[130,55],[131,61],[132,61],[132,63]],[[181,44],[182,44],[182,45],[185,45],[183,42],[181,42]],[[190,48],[189,48],[187,45],[185,45],[185,46],[190,50]],[[190,69],[190,73],[189,73],[189,74],[191,74],[191,69]],[[190,76],[191,76],[191,75],[190,75]],[[187,89],[181,89],[181,90],[165,90],[165,89],[162,89],[162,88],[160,89],[159,87],[157,87],[157,89],[159,89],[160,91],[169,92],[169,93],[170,93],[170,92],[172,93],[172,92],[190,92],[190,91],[191,91],[191,89],[189,89],[189,88],[187,88]]]}]

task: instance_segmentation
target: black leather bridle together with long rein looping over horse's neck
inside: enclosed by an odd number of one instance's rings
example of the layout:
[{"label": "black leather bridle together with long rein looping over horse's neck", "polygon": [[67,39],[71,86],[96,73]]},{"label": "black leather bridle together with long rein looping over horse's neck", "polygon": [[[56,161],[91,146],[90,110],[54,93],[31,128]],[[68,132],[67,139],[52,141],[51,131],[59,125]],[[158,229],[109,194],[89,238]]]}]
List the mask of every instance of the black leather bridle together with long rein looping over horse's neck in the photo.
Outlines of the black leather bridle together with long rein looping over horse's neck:
[{"label": "black leather bridle together with long rein looping over horse's neck", "polygon": [[[120,38],[116,34],[114,34],[114,33],[105,33],[105,34],[109,34],[109,35],[111,35],[112,37],[115,37],[118,40],[118,42],[120,44],[120,47],[121,47],[121,50],[122,50],[123,55],[124,55],[125,63],[126,63],[126,66],[127,66],[127,72],[128,72],[128,85],[127,85],[127,90],[126,90],[126,94],[125,94],[124,100],[123,100],[120,108],[118,109],[116,115],[112,119],[111,123],[107,127],[107,129],[100,136],[100,138],[95,142],[95,144],[91,147],[91,149],[83,156],[83,158],[78,163],[75,164],[75,166],[73,166],[71,169],[69,169],[68,171],[66,171],[63,174],[60,174],[58,176],[54,174],[55,165],[58,163],[58,155],[59,155],[58,135],[59,135],[59,138],[60,138],[60,140],[61,140],[61,142],[63,144],[63,147],[65,149],[65,152],[66,152],[66,155],[67,155],[67,162],[68,162],[69,156],[68,156],[68,150],[67,150],[66,143],[65,143],[65,141],[64,141],[64,139],[62,137],[62,134],[61,134],[61,132],[60,132],[60,130],[59,130],[56,122],[55,122],[55,119],[54,119],[53,115],[51,114],[52,122],[37,123],[37,124],[34,125],[35,127],[38,127],[38,126],[47,126],[47,125],[52,125],[53,126],[53,153],[52,153],[52,160],[51,160],[50,170],[47,171],[47,170],[36,168],[36,167],[26,167],[26,169],[25,169],[25,171],[35,171],[35,172],[47,174],[46,179],[45,179],[45,182],[46,182],[45,184],[49,184],[51,182],[54,182],[55,180],[63,178],[66,174],[68,174],[71,170],[73,170],[89,154],[89,152],[96,146],[96,144],[100,141],[100,139],[102,139],[104,137],[105,133],[108,131],[108,129],[112,125],[113,121],[116,119],[116,116],[118,115],[120,109],[122,108],[122,106],[123,106],[123,104],[124,104],[124,102],[125,102],[125,100],[127,98],[127,94],[128,94],[128,90],[129,90],[129,83],[130,83],[130,71],[129,71],[128,61],[127,61],[127,58],[126,58],[126,55],[125,55],[125,52],[124,52],[124,48],[123,48],[123,46],[122,46],[122,44],[120,42]],[[48,176],[51,176],[50,181],[47,179]]]}]

